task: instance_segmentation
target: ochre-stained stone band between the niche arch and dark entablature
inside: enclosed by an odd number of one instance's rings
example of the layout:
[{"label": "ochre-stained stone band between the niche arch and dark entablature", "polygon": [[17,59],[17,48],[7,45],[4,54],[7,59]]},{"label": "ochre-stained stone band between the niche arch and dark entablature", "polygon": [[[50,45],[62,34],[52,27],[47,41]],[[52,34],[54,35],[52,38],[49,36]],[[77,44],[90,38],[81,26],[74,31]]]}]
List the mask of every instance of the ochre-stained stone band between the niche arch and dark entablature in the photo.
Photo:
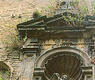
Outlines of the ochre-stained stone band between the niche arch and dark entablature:
[{"label": "ochre-stained stone band between the niche arch and dark entablature", "polygon": [[[67,43],[67,44],[66,44]],[[73,43],[75,45],[68,45],[68,43]],[[53,47],[61,47],[61,46],[71,46],[76,47],[83,52],[88,52],[88,45],[85,43],[84,39],[76,39],[76,40],[70,40],[70,39],[56,39],[56,40],[46,40],[41,43],[42,49],[49,50]]]}]

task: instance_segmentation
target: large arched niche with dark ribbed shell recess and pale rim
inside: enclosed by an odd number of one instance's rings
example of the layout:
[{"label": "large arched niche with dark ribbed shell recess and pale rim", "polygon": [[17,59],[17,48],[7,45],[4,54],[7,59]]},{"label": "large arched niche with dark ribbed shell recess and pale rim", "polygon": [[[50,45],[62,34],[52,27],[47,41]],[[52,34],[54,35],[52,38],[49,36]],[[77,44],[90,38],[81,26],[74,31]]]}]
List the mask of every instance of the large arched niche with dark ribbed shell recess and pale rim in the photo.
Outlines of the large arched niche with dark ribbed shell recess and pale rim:
[{"label": "large arched niche with dark ribbed shell recess and pale rim", "polygon": [[82,67],[88,71],[87,69],[91,69],[88,67],[90,65],[88,55],[76,48],[55,48],[43,53],[37,59],[34,76],[42,75],[41,80],[50,80],[57,73],[60,78],[65,75],[68,80],[85,80]]}]

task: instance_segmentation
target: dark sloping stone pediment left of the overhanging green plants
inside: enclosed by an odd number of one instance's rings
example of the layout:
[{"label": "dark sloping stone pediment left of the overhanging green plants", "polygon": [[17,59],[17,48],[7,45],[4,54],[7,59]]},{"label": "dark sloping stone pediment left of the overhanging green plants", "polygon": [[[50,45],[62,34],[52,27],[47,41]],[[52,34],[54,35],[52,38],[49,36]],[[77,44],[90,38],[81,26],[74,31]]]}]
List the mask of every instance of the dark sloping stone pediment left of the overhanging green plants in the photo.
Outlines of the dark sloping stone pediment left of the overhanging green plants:
[{"label": "dark sloping stone pediment left of the overhanging green plants", "polygon": [[68,18],[68,15],[72,17],[76,17],[76,14],[72,14],[69,12],[64,12],[62,14],[57,14],[48,18],[46,16],[41,16],[39,18],[35,18],[30,21],[18,24],[17,28],[18,30],[25,30],[27,28],[37,29],[37,28],[42,28],[42,27],[46,28],[46,27],[51,27],[51,26],[53,27],[66,26],[68,25],[68,23],[64,20],[63,16],[66,16],[66,18]]}]

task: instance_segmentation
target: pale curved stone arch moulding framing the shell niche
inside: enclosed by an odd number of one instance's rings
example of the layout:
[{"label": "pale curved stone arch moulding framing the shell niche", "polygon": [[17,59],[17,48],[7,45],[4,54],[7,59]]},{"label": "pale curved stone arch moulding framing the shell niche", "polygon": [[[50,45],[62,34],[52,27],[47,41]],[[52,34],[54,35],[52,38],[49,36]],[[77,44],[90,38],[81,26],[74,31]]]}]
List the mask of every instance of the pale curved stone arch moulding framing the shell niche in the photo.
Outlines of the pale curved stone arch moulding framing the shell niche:
[{"label": "pale curved stone arch moulding framing the shell niche", "polygon": [[35,61],[35,68],[43,67],[43,64],[47,60],[47,58],[58,52],[72,52],[73,54],[79,56],[83,60],[85,66],[91,65],[90,57],[87,53],[84,53],[83,51],[72,47],[59,47],[48,50],[44,52],[42,55],[40,55],[38,59]]}]

